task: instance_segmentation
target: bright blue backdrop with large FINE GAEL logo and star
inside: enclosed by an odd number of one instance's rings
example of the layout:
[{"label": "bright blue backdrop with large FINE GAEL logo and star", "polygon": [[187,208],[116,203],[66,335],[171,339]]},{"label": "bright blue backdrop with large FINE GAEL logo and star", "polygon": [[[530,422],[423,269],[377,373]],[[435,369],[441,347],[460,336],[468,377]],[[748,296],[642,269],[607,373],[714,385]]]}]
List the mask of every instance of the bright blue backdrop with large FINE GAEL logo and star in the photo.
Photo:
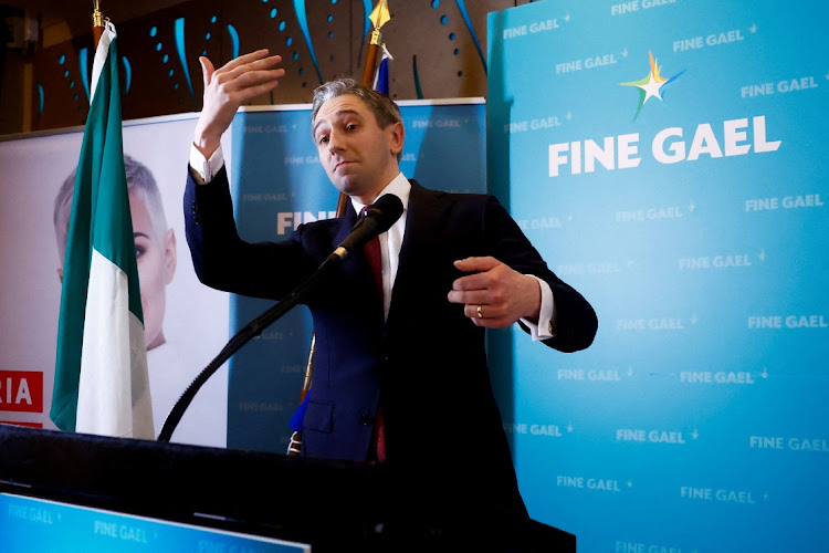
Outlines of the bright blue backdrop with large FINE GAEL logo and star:
[{"label": "bright blue backdrop with large FINE GAEL logo and star", "polygon": [[599,315],[583,353],[491,344],[529,512],[581,552],[827,550],[826,13],[490,14],[490,189]]}]

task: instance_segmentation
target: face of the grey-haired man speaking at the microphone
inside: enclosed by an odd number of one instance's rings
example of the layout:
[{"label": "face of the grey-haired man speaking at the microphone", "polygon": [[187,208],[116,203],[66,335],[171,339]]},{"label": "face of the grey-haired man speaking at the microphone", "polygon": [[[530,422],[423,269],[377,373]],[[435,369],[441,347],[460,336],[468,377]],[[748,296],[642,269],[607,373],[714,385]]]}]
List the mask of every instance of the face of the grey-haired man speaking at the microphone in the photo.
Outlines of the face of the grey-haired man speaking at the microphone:
[{"label": "face of the grey-haired man speaking at the microphone", "polygon": [[334,186],[363,204],[374,201],[400,171],[402,124],[380,128],[368,105],[354,94],[322,105],[314,119],[314,142]]}]

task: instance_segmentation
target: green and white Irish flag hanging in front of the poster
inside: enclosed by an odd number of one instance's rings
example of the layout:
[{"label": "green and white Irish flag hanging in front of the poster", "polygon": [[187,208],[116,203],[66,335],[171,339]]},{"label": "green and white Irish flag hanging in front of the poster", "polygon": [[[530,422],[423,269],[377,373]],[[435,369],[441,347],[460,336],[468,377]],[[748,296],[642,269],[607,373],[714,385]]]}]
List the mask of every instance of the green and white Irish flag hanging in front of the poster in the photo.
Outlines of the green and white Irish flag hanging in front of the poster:
[{"label": "green and white Irish flag hanging in front of the poster", "polygon": [[51,417],[62,430],[154,439],[109,23],[95,52],[90,97],[63,265]]}]

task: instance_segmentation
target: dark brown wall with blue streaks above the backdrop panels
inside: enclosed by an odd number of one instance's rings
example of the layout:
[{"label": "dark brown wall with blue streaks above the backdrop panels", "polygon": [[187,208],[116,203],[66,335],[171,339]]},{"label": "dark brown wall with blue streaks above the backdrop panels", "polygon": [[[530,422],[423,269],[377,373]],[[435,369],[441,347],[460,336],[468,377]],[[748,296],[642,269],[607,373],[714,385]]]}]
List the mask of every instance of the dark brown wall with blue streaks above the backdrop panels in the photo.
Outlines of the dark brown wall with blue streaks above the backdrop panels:
[{"label": "dark brown wall with blue streaks above the backdrop panels", "polygon": [[[82,125],[94,56],[92,2],[7,0],[0,134]],[[19,6],[13,6],[18,3]],[[138,2],[136,2],[138,3]],[[321,82],[359,79],[372,0],[103,1],[118,32],[124,118],[201,107],[198,63],[267,48],[286,76],[253,104],[306,103]],[[486,14],[527,0],[390,0],[384,42],[396,100],[485,96]],[[112,4],[112,6],[107,6]],[[22,23],[21,23],[22,20]],[[20,30],[22,29],[22,31]],[[14,39],[14,35],[20,35]]]}]

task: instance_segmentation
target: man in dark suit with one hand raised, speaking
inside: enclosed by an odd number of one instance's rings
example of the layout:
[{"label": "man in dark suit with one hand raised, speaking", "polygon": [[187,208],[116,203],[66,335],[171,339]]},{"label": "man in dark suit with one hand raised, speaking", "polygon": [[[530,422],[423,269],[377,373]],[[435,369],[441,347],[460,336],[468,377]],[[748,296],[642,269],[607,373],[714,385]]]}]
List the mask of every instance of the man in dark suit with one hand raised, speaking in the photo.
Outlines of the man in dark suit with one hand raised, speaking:
[{"label": "man in dark suit with one hand raised, speaking", "polygon": [[306,300],[317,345],[303,453],[385,461],[410,504],[429,505],[429,513],[411,507],[407,515],[526,517],[490,384],[484,328],[521,322],[545,345],[583,349],[597,327],[588,302],[547,269],[494,197],[450,195],[406,179],[398,167],[399,109],[350,80],[315,91],[312,127],[321,163],[351,206],[283,242],[244,242],[219,138],[239,105],[273,90],[284,71],[266,51],[219,70],[200,61],[204,107],[185,212],[202,282],[281,299],[348,234],[360,208],[385,194],[405,208],[380,236],[381,282],[358,253]]}]

